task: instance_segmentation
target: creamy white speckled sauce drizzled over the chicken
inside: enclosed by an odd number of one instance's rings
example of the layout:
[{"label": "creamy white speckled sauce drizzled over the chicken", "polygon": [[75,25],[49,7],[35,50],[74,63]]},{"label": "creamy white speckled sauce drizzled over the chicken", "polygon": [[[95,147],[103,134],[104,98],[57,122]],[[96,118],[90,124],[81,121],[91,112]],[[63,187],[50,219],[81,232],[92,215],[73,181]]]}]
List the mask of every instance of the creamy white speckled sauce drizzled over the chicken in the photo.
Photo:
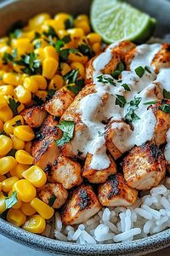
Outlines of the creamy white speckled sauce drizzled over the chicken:
[{"label": "creamy white speckled sauce drizzled over the chicken", "polygon": [[[111,119],[111,129],[116,131],[112,142],[122,153],[133,148],[134,145],[139,146],[150,141],[154,135],[156,117],[151,108],[148,109],[150,104],[147,102],[160,100],[163,88],[169,90],[170,68],[161,69],[160,73],[156,75],[151,65],[154,56],[161,49],[161,44],[137,46],[130,64],[130,71],[122,71],[121,83],[109,74],[103,75],[102,70],[111,61],[111,49],[117,44],[112,44],[105,53],[94,60],[94,88],[96,92],[82,98],[79,112],[81,113],[82,124],[85,126],[82,133],[78,134],[77,132],[71,142],[75,154],[80,150],[84,157],[88,153],[93,155],[90,166],[96,170],[105,169],[111,164],[105,147],[105,121]],[[148,67],[150,72],[144,69],[144,75],[140,78],[135,72],[139,66]],[[107,79],[107,83],[99,81],[101,75]],[[114,84],[110,83],[109,79]],[[130,91],[125,90],[122,84],[127,84]],[[117,95],[123,96],[126,100],[124,106],[116,105]],[[104,98],[105,100],[103,100]],[[137,98],[139,104],[134,107],[130,102]],[[132,121],[133,129],[124,122],[127,113],[132,109],[137,116]],[[167,139],[170,140],[169,137],[170,135],[167,135]],[[165,152],[167,159],[170,160],[170,142],[167,143]]]}]

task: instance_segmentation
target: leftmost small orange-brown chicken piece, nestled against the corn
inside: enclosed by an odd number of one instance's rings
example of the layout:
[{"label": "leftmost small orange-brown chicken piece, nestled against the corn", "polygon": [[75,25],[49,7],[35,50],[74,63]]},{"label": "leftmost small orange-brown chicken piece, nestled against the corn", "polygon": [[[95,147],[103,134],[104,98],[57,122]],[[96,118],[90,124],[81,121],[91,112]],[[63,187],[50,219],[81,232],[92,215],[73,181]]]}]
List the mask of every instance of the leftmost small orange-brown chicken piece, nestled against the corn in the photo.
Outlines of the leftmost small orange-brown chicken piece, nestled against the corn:
[{"label": "leftmost small orange-brown chicken piece, nestled against the corn", "polygon": [[40,127],[47,116],[47,112],[40,106],[26,108],[20,114],[25,119],[26,124],[32,128]]}]

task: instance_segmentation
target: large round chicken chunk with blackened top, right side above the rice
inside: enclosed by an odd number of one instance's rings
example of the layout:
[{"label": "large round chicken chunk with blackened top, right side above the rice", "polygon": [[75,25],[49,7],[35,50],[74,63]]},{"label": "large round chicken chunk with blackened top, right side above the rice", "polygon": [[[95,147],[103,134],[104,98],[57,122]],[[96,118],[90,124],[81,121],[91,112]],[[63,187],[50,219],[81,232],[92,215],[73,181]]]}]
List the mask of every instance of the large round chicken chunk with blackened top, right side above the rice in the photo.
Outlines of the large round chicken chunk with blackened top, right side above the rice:
[{"label": "large round chicken chunk with blackened top, right side above the rice", "polygon": [[146,190],[156,187],[166,174],[166,160],[161,149],[153,143],[134,147],[123,160],[127,185]]}]

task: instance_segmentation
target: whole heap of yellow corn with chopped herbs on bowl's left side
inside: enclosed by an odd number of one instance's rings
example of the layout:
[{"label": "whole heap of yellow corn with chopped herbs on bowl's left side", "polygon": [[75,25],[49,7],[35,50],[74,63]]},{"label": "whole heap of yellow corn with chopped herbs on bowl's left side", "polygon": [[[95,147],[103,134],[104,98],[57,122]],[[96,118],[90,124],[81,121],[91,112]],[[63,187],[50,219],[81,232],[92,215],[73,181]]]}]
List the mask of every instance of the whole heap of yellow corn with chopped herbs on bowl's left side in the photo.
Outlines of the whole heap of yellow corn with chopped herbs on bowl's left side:
[{"label": "whole heap of yellow corn with chopped herbs on bowl's left side", "polygon": [[43,107],[56,90],[76,96],[88,60],[102,50],[101,37],[91,31],[87,15],[74,19],[43,13],[25,27],[15,25],[0,39],[0,213],[8,222],[41,234],[54,207],[38,198],[47,175],[33,165],[36,131],[22,112]]}]

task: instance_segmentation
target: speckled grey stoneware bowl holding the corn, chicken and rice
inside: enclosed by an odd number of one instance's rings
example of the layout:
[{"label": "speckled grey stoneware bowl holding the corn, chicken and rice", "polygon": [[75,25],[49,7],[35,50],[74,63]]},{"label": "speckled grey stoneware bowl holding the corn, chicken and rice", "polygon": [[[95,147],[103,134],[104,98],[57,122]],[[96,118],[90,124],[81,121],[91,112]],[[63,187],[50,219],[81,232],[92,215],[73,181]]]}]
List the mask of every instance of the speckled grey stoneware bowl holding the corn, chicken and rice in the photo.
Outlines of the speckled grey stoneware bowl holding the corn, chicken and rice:
[{"label": "speckled grey stoneware bowl holding the corn, chicken and rice", "polygon": [[[105,1],[105,0],[103,0]],[[52,15],[59,11],[69,12],[73,15],[89,12],[90,0],[0,0],[0,36],[3,36],[8,27],[17,20],[28,20],[32,15],[40,12],[49,12]],[[167,0],[129,0],[129,3],[137,6],[156,17],[156,37],[163,37],[170,33],[170,1]],[[3,218],[0,218],[0,231],[3,236],[33,247],[42,252],[62,255],[142,255],[155,252],[170,244],[170,229],[162,231],[136,241],[81,246],[71,242],[56,241],[31,234],[25,230],[14,227]]]}]

